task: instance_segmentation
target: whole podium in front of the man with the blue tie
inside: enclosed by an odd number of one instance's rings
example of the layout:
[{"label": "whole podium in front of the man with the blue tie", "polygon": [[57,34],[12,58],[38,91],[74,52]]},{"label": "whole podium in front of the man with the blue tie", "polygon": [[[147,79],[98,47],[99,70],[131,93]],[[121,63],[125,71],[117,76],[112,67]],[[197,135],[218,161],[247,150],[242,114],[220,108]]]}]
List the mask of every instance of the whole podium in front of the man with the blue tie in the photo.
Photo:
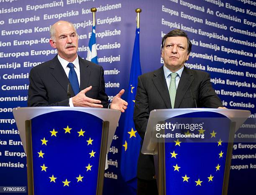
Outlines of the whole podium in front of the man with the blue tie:
[{"label": "whole podium in front of the man with the blue tie", "polygon": [[13,115],[27,155],[29,195],[101,195],[119,110],[22,107]]}]

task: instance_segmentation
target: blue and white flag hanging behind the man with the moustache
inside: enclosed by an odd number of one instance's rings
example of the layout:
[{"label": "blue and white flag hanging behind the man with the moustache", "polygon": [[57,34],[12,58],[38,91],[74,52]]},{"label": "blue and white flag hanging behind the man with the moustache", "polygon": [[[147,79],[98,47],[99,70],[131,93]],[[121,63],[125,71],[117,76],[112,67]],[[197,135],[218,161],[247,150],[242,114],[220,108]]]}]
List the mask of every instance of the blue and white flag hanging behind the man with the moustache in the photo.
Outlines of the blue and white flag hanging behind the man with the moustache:
[{"label": "blue and white flag hanging behind the man with the moustache", "polygon": [[89,40],[89,50],[87,52],[87,60],[98,64],[97,50],[96,50],[96,30],[95,25],[92,26],[92,35]]}]

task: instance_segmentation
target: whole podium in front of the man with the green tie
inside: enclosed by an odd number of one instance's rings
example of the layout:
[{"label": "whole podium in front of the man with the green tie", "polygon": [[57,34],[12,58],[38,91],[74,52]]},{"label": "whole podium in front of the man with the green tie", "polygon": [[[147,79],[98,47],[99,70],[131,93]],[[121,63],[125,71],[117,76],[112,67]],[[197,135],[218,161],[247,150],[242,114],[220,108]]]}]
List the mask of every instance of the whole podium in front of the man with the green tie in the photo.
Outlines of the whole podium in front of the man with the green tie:
[{"label": "whole podium in front of the man with the green tie", "polygon": [[159,195],[226,195],[234,134],[248,110],[152,110],[141,153],[154,155]]}]

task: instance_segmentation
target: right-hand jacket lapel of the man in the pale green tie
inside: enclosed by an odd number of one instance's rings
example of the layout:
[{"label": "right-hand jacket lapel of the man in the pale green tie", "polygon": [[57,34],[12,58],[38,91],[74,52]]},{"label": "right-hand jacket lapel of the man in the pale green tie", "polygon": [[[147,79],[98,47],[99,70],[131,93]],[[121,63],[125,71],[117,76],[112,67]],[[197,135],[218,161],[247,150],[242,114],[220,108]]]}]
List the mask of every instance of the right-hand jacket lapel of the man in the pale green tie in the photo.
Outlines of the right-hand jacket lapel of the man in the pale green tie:
[{"label": "right-hand jacket lapel of the man in the pale green tie", "polygon": [[175,103],[174,108],[179,108],[179,105],[181,104],[183,97],[185,95],[185,92],[187,92],[189,86],[191,85],[192,81],[194,80],[194,76],[187,67],[184,66],[184,70],[182,72],[182,76],[179,80],[179,85],[176,92],[175,97]]}]

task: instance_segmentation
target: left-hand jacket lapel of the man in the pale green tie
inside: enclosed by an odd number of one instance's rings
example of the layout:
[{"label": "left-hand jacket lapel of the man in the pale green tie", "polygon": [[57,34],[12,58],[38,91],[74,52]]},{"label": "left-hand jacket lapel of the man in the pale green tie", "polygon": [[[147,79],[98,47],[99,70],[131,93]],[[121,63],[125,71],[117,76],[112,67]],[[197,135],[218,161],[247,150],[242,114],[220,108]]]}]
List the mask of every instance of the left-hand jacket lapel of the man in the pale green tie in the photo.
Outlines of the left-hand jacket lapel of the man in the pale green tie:
[{"label": "left-hand jacket lapel of the man in the pale green tie", "polygon": [[163,67],[159,68],[154,72],[154,77],[152,80],[154,82],[154,85],[156,86],[156,89],[164,100],[166,108],[172,108],[168,87],[164,78]]}]

